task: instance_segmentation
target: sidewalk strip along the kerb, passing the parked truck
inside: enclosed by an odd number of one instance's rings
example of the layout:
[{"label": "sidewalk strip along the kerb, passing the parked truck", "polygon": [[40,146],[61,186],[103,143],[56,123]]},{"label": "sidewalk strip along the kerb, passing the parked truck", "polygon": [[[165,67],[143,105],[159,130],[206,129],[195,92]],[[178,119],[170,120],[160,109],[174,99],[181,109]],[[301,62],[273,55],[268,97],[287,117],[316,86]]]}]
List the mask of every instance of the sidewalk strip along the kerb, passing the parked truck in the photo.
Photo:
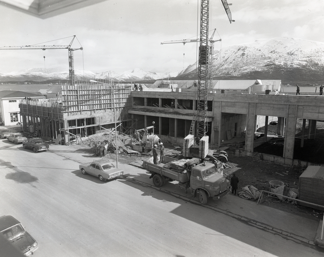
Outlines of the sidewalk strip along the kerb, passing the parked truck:
[{"label": "sidewalk strip along the kerb, passing the parked truck", "polygon": [[[95,153],[90,154],[71,146],[51,144],[50,151],[78,163],[90,162],[96,159]],[[142,159],[147,159],[147,157],[143,156]],[[115,162],[115,160],[112,160],[112,162]],[[155,187],[152,180],[149,179],[150,173],[145,169],[121,162],[118,163],[118,167],[124,171],[124,177],[134,183],[144,184],[194,204],[200,204],[198,197],[193,198],[190,193],[186,194],[182,188],[179,188],[176,181],[168,182],[158,188]],[[76,169],[77,168],[78,164],[76,163]],[[273,234],[278,234],[289,240],[324,246],[324,240],[320,240],[321,222],[319,222],[319,224],[318,221],[274,209],[266,206],[264,203],[257,204],[257,201],[245,200],[230,193],[228,196],[219,200],[209,198],[204,207],[222,212],[231,217],[240,219],[249,225],[264,229]]]}]

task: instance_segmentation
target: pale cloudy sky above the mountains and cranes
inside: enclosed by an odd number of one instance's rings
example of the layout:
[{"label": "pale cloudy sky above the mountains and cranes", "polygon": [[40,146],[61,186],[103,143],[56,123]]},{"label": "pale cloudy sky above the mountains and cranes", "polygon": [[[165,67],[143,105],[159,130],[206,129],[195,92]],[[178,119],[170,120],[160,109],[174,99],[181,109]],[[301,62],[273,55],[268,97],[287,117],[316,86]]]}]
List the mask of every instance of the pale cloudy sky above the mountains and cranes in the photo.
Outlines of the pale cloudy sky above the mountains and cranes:
[{"label": "pale cloudy sky above the mountains and cranes", "polygon": [[[323,0],[228,0],[229,23],[220,0],[210,0],[210,30],[220,50],[260,38],[289,37],[324,42]],[[123,72],[134,68],[164,73],[196,61],[196,43],[164,44],[199,34],[200,1],[107,0],[41,19],[0,6],[2,46],[23,46],[76,35],[83,51],[74,51],[75,69]],[[68,45],[71,38],[43,43]],[[80,44],[74,41],[72,47]],[[183,53],[185,55],[183,55]],[[1,50],[0,73],[29,68],[63,67],[67,50]]]}]

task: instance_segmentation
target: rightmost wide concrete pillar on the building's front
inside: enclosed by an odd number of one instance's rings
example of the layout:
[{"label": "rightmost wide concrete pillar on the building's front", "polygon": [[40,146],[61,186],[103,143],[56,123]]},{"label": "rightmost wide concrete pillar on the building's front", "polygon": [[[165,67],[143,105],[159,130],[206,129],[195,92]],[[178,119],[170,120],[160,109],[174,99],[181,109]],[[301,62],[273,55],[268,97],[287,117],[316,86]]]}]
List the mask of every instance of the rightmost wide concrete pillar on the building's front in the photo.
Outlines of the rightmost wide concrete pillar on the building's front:
[{"label": "rightmost wide concrete pillar on the building's front", "polygon": [[292,165],[294,158],[295,133],[297,121],[297,105],[288,106],[288,117],[286,120],[286,131],[284,137],[284,164]]}]

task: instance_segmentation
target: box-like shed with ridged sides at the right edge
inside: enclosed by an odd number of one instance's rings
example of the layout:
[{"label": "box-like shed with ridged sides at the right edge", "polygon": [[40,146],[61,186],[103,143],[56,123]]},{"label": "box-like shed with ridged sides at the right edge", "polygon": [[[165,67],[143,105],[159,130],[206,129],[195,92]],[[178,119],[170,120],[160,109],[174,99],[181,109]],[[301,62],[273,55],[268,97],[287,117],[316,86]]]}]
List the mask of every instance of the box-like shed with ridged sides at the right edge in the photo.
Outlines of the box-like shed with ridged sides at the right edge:
[{"label": "box-like shed with ridged sides at the right edge", "polygon": [[[324,167],[308,166],[299,177],[299,200],[324,206]],[[324,210],[305,203],[307,207]]]}]

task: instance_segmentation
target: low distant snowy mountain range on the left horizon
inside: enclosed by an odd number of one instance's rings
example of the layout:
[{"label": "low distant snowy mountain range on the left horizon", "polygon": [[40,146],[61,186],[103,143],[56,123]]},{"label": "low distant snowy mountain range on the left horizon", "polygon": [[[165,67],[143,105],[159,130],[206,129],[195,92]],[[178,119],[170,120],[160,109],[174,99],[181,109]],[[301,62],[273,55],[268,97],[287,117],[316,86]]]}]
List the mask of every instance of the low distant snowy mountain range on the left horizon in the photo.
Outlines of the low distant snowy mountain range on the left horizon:
[{"label": "low distant snowy mountain range on the left horizon", "polygon": [[[120,81],[135,81],[135,80],[156,80],[168,77],[176,77],[178,72],[170,73],[154,73],[145,72],[142,69],[134,69],[131,71],[125,71],[117,73],[114,71],[107,71],[101,73],[93,73],[91,71],[75,70],[75,80],[90,80],[90,79],[106,79],[110,78],[113,80]],[[49,81],[49,80],[69,80],[69,71],[62,68],[46,69],[44,73],[43,68],[32,68],[19,72],[11,72],[7,74],[0,73],[0,81]]]}]

